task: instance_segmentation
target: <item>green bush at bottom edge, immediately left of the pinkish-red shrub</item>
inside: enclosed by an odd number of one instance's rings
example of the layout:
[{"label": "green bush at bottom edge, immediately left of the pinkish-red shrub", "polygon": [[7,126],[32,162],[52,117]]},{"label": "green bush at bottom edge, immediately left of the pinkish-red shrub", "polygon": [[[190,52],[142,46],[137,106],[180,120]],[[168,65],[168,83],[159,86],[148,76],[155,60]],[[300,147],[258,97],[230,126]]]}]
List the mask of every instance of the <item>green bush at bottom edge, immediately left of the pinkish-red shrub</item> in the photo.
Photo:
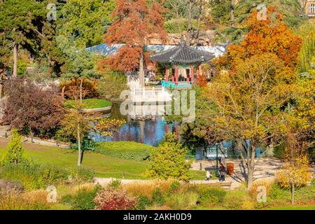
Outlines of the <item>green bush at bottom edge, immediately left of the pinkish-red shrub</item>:
[{"label": "green bush at bottom edge, immediately left of the pinkish-red shrub", "polygon": [[65,195],[62,197],[64,204],[70,204],[72,209],[75,210],[90,210],[94,209],[96,204],[94,198],[97,192],[102,189],[101,186],[95,186],[92,189],[80,188],[75,195]]}]

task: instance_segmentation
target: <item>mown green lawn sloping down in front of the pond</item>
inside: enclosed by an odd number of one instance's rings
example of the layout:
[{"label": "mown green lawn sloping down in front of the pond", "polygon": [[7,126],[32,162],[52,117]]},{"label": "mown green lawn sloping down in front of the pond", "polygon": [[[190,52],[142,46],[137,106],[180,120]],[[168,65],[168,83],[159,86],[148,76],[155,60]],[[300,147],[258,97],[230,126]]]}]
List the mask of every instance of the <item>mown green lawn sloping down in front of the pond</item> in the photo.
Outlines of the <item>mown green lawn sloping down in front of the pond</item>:
[{"label": "mown green lawn sloping down in front of the pond", "polygon": [[[6,151],[7,139],[0,138],[0,158]],[[25,155],[36,163],[52,164],[64,168],[77,167],[78,152],[50,146],[38,146],[23,144]],[[82,167],[92,169],[98,177],[113,177],[121,179],[125,173],[125,179],[144,179],[141,174],[150,168],[148,162],[113,158],[101,153],[85,152]],[[204,179],[204,172],[190,171],[193,179]]]}]

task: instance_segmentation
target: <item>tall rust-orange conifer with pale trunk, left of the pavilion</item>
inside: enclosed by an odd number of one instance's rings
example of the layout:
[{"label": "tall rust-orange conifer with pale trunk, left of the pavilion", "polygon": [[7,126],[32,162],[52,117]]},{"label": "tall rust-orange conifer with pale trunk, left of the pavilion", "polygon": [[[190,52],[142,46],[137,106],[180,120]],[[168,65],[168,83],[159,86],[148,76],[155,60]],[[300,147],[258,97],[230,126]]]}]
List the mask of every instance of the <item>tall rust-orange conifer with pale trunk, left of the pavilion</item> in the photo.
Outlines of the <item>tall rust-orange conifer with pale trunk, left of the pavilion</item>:
[{"label": "tall rust-orange conifer with pale trunk, left of the pavilion", "polygon": [[[158,3],[148,6],[145,0],[118,0],[113,11],[113,23],[107,29],[105,42],[109,45],[124,43],[115,55],[105,60],[118,71],[139,70],[140,85],[144,86],[144,45],[149,36],[166,37],[162,7]],[[148,58],[148,57],[147,57]]]}]

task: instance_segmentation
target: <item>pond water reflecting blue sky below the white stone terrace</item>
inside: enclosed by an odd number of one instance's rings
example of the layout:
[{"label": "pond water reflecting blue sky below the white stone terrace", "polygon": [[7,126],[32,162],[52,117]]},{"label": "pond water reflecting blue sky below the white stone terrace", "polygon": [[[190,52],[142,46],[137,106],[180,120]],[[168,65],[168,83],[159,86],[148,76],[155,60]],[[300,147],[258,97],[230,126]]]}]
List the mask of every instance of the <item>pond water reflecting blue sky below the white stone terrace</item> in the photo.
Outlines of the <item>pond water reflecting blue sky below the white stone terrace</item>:
[{"label": "pond water reflecting blue sky below the white stone terrace", "polygon": [[152,120],[132,120],[122,116],[119,111],[119,104],[113,104],[111,118],[124,119],[126,123],[113,134],[113,137],[103,138],[100,134],[91,134],[95,142],[101,141],[136,141],[150,146],[158,146],[165,137],[165,133],[172,131],[179,133],[179,125],[176,123],[167,124],[163,117],[157,116]]}]

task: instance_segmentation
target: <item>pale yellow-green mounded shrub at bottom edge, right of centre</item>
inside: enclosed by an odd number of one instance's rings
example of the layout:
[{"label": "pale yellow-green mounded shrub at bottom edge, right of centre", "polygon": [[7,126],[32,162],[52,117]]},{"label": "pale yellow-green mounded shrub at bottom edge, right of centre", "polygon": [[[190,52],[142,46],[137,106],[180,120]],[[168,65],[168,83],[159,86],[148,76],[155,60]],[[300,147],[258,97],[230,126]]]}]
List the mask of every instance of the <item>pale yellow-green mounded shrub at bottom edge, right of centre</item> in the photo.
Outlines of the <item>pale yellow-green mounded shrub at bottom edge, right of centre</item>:
[{"label": "pale yellow-green mounded shrub at bottom edge, right of centre", "polygon": [[199,195],[197,193],[176,193],[167,199],[167,205],[175,210],[192,209],[196,206]]}]

